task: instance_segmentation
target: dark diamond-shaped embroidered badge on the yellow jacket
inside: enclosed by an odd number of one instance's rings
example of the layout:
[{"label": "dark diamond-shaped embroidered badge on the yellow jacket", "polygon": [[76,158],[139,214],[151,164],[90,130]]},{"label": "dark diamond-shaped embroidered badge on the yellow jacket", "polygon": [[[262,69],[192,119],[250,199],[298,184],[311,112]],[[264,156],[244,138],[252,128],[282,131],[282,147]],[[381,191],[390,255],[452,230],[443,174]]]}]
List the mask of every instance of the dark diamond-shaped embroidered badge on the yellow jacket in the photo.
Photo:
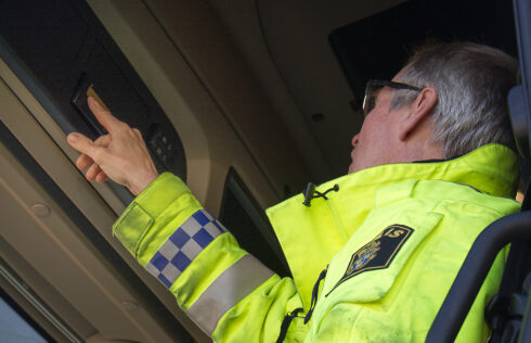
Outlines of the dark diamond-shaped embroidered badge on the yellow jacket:
[{"label": "dark diamond-shaped embroidered badge on the yellow jacket", "polygon": [[389,267],[413,231],[412,228],[399,224],[387,227],[371,242],[352,254],[345,275],[331,292],[340,283],[359,274]]}]

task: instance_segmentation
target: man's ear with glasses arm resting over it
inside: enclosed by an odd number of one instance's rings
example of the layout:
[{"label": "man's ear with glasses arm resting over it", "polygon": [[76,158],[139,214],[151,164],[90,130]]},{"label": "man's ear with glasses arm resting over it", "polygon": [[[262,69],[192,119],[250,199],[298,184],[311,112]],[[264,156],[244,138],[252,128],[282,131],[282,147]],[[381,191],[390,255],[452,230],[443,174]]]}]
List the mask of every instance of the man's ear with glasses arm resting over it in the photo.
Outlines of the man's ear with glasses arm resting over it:
[{"label": "man's ear with glasses arm resting over it", "polygon": [[420,91],[400,122],[400,140],[405,140],[428,117],[437,103],[437,89],[433,87],[426,87]]}]

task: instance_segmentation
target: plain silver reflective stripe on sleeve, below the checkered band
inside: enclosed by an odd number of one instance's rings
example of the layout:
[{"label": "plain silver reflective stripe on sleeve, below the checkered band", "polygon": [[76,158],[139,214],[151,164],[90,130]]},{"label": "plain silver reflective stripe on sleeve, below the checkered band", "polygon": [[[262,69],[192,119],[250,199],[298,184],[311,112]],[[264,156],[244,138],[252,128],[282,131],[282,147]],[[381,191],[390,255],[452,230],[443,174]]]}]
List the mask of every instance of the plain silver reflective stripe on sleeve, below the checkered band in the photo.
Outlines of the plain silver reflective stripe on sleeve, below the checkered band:
[{"label": "plain silver reflective stripe on sleeve, below the checkered band", "polygon": [[245,255],[223,271],[189,308],[186,314],[208,335],[230,308],[273,276],[251,255]]}]

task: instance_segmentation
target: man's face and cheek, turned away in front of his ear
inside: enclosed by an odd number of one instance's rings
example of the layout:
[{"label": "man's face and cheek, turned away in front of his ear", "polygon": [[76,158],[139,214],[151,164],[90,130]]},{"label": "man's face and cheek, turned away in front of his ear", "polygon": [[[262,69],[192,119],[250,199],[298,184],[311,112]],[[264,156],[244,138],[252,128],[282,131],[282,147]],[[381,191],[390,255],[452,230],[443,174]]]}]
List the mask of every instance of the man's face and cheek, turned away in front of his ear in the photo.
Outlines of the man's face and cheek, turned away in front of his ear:
[{"label": "man's face and cheek, turned away in front of his ear", "polygon": [[363,126],[352,138],[352,163],[349,174],[394,161],[393,147],[398,139],[400,110],[391,111],[394,90],[384,87],[376,96],[374,109],[367,113]]}]

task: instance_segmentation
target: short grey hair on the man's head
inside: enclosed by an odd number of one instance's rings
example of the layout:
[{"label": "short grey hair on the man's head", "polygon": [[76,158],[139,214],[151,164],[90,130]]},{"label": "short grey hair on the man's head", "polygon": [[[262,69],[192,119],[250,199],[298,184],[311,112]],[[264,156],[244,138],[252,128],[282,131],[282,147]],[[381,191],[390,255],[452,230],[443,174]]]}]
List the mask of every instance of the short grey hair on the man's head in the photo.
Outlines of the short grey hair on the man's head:
[{"label": "short grey hair on the man's head", "polygon": [[[454,42],[417,50],[399,80],[437,89],[432,141],[448,158],[493,142],[515,149],[507,93],[517,73],[518,62],[500,50]],[[417,91],[398,90],[390,107],[411,104],[417,96]]]}]

